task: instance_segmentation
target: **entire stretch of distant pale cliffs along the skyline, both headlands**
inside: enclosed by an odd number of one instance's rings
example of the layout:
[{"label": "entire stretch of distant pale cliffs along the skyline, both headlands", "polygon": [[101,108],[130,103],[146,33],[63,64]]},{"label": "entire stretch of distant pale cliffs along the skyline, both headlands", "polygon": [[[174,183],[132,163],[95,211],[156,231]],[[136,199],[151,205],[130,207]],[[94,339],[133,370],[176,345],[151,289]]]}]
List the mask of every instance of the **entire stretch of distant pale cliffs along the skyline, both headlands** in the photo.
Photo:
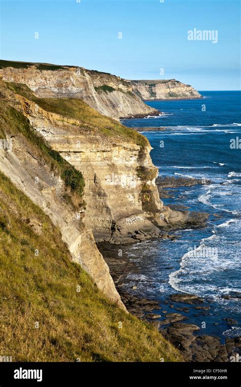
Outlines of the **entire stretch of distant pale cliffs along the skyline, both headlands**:
[{"label": "entire stretch of distant pale cliffs along the skyline, both headlands", "polygon": [[142,100],[201,97],[174,79],[132,81],[76,66],[0,61],[0,76],[27,85],[40,98],[80,98],[115,120],[161,114]]}]

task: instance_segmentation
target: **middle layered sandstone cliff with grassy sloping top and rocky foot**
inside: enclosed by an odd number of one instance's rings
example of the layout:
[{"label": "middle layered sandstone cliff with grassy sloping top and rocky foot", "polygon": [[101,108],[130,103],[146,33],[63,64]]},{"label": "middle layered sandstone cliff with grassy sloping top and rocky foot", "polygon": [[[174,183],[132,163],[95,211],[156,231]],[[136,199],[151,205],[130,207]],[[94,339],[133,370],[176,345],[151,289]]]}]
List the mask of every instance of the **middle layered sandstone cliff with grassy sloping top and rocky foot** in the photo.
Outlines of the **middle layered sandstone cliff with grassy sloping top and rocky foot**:
[{"label": "middle layered sandstone cliff with grassy sloping top and rocky foot", "polygon": [[[11,84],[33,127],[84,177],[84,223],[97,241],[133,242],[182,226],[188,213],[160,201],[147,139],[79,99],[37,98]],[[21,95],[20,95],[21,94]],[[65,114],[65,116],[63,115]]]}]

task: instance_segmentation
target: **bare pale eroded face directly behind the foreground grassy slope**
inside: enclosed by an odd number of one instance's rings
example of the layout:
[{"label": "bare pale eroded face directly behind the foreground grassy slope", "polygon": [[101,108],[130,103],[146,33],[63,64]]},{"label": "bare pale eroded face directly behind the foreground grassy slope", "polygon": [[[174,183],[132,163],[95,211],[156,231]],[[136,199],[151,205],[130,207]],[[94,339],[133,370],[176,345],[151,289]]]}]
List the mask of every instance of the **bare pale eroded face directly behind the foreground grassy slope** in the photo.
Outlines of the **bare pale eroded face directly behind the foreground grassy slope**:
[{"label": "bare pale eroded face directly behind the foreground grassy slope", "polygon": [[[3,82],[0,92],[1,98],[4,97],[6,114],[13,121],[15,109],[21,111],[23,101],[21,97],[17,98],[13,93],[9,93]],[[13,117],[10,114],[13,114]],[[1,127],[2,123],[1,118]],[[21,124],[18,122],[18,125]],[[83,206],[73,208],[71,192],[66,191],[63,179],[52,169],[51,164],[42,158],[36,146],[29,143],[20,133],[13,132],[10,126],[7,126],[4,134],[7,139],[11,138],[12,146],[8,150],[0,149],[0,170],[50,217],[61,231],[73,261],[79,263],[91,275],[98,288],[109,299],[126,310],[115,289],[109,268],[98,251],[92,229],[84,225]]]}]

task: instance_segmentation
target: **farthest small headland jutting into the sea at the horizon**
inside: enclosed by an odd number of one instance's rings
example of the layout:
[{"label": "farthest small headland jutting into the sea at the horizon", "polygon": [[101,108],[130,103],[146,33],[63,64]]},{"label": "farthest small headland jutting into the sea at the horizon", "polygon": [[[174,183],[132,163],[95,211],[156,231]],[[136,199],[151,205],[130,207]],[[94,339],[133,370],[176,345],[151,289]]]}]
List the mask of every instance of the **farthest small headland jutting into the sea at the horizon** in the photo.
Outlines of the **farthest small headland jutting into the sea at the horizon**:
[{"label": "farthest small headland jutting into the sea at the horizon", "polygon": [[175,79],[130,80],[133,93],[143,100],[202,98],[192,86]]}]

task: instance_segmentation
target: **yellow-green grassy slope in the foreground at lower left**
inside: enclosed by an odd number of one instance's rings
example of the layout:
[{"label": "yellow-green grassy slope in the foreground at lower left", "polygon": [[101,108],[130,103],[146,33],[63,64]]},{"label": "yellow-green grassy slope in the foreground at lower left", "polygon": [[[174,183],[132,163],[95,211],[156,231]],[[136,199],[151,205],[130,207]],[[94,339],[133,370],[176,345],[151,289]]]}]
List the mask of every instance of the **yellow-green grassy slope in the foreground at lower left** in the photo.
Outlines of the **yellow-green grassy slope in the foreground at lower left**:
[{"label": "yellow-green grassy slope in the foreground at lower left", "polygon": [[48,216],[1,172],[0,265],[0,353],[14,362],[182,361],[153,326],[104,297]]}]

